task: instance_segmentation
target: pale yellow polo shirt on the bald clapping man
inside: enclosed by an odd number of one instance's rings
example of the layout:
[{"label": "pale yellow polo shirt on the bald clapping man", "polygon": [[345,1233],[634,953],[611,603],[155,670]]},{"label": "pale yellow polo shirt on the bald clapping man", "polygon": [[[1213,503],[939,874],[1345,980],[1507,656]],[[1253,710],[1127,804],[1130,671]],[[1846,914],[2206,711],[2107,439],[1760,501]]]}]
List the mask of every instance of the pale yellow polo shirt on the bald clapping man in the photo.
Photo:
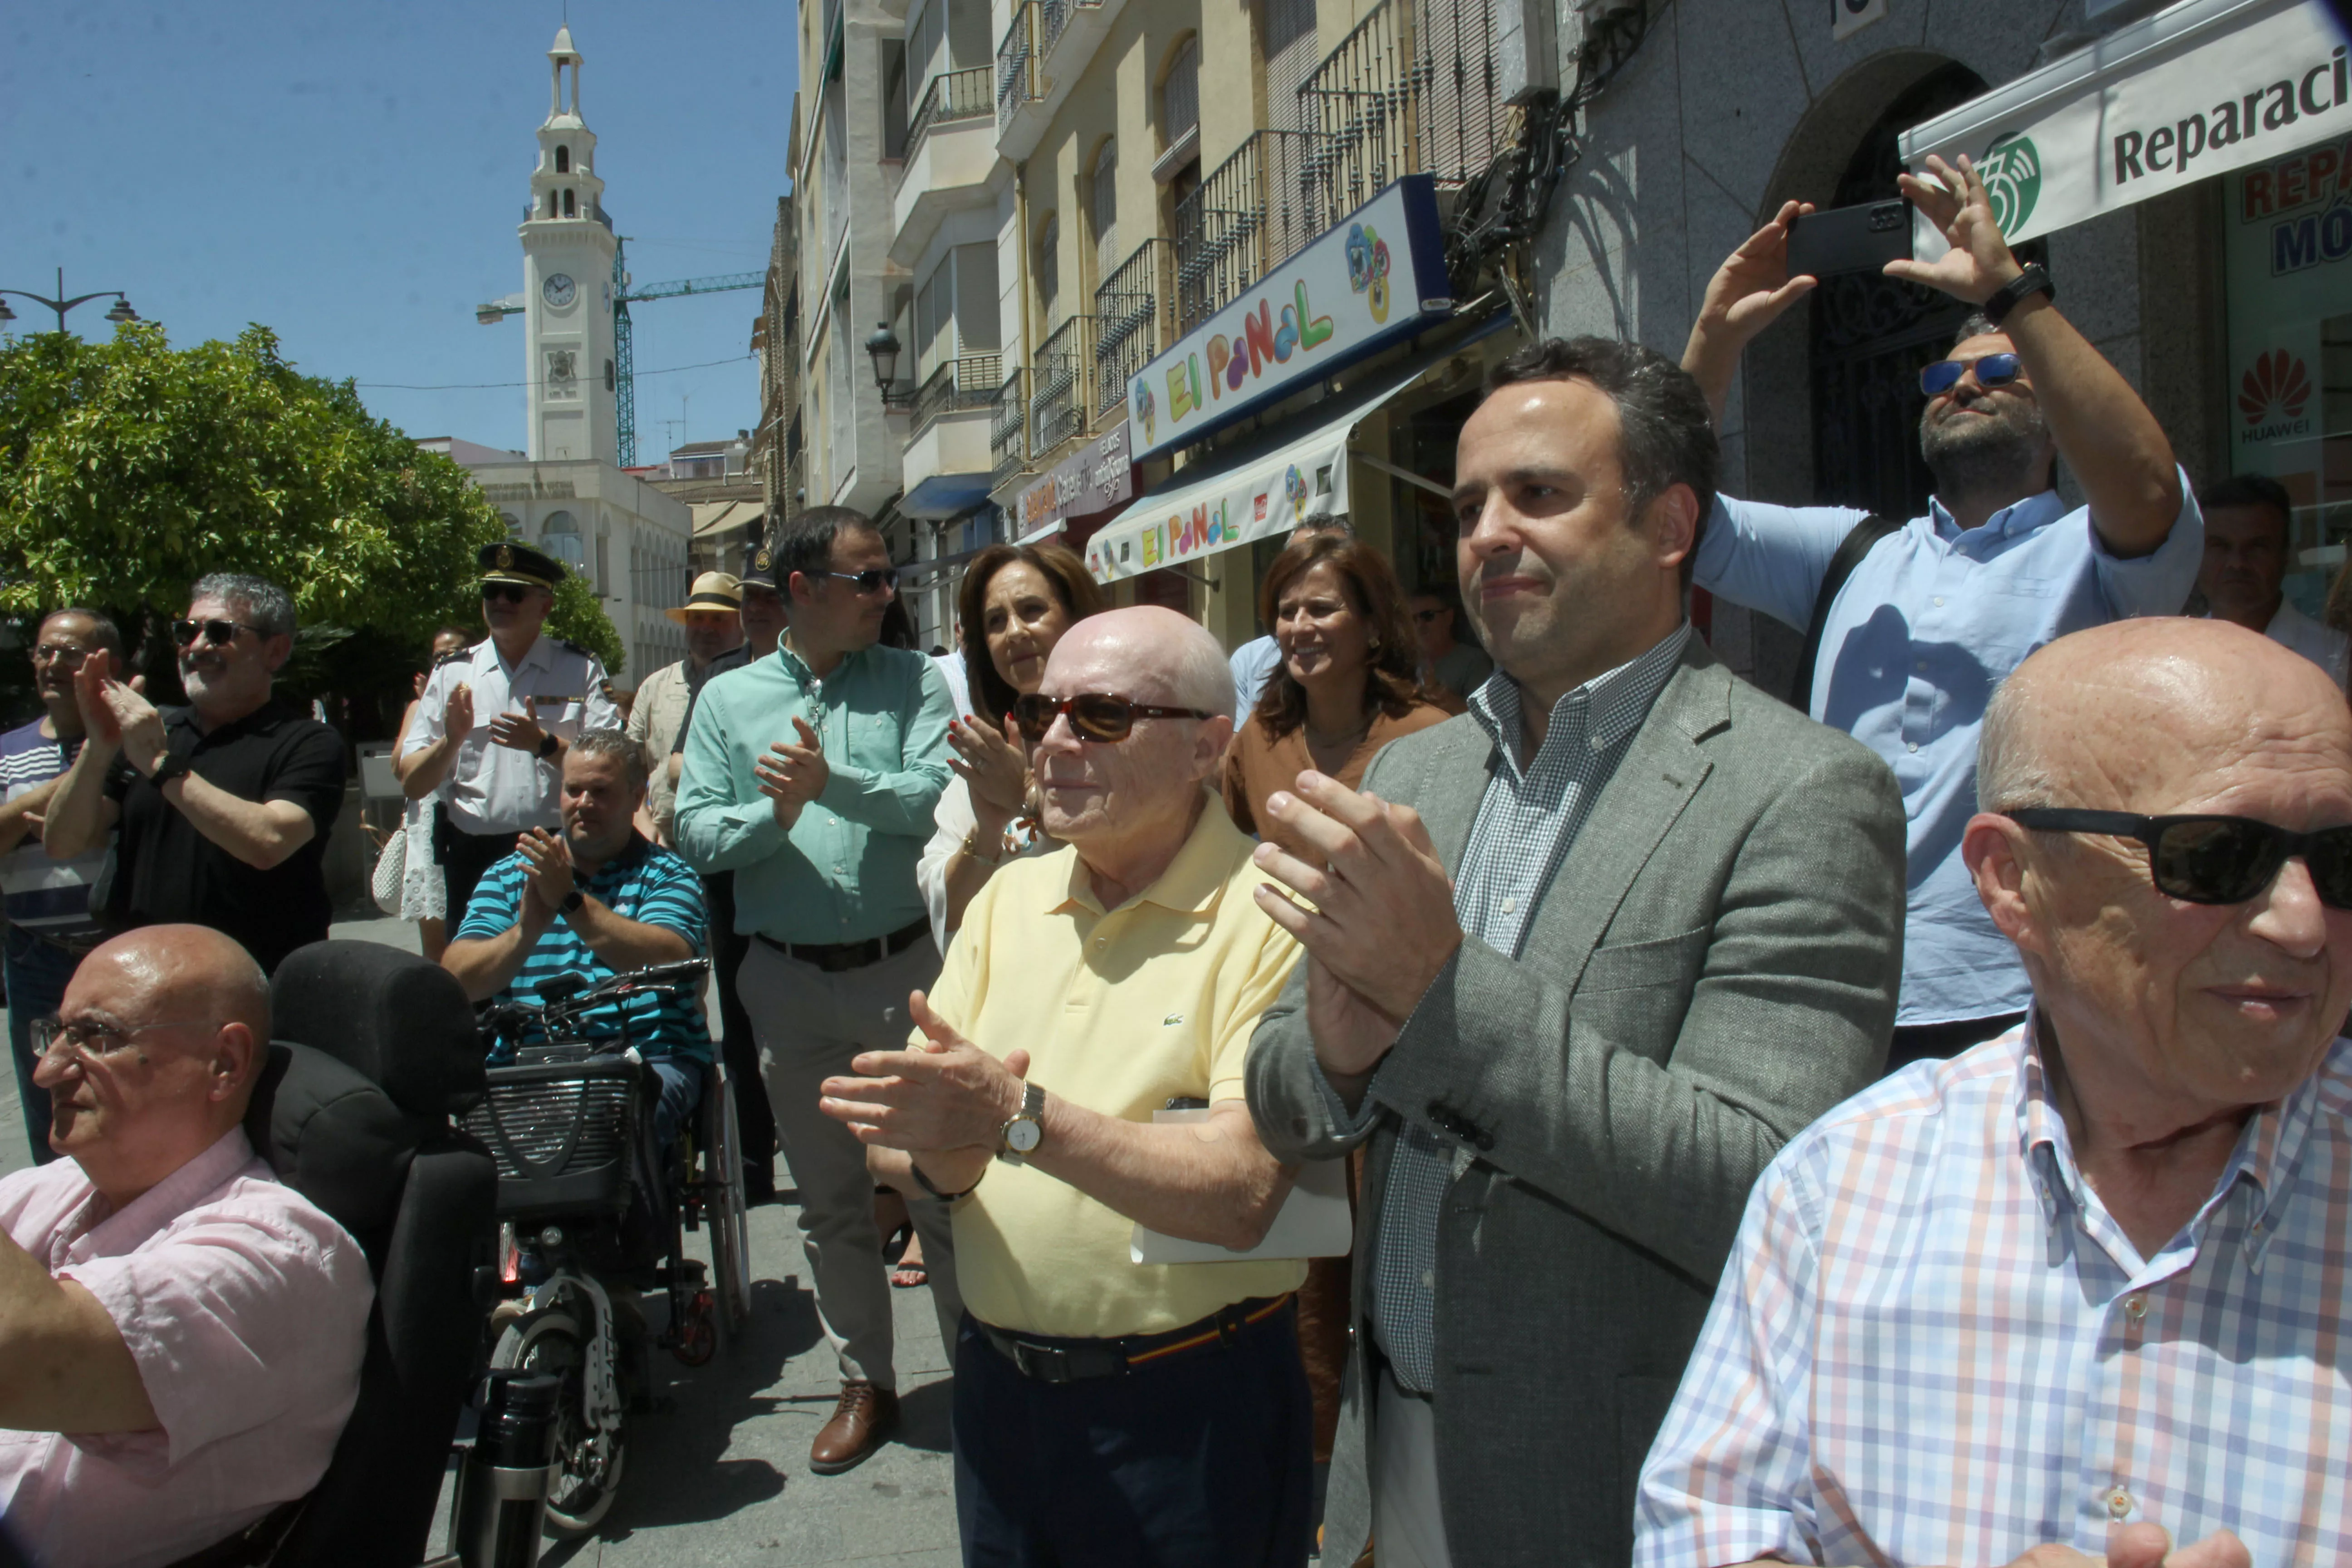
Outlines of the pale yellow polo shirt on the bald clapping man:
[{"label": "pale yellow polo shirt on the bald clapping man", "polygon": [[[1014,860],[964,912],[931,1006],[983,1051],[1025,1048],[1047,1093],[1105,1117],[1240,1100],[1249,1032],[1298,961],[1251,898],[1265,882],[1251,849],[1211,795],[1160,882],[1108,912],[1075,849]],[[1305,1279],[1296,1260],[1136,1265],[1131,1229],[1077,1187],[995,1161],[955,1204],[955,1281],[983,1324],[1101,1340]]]}]

